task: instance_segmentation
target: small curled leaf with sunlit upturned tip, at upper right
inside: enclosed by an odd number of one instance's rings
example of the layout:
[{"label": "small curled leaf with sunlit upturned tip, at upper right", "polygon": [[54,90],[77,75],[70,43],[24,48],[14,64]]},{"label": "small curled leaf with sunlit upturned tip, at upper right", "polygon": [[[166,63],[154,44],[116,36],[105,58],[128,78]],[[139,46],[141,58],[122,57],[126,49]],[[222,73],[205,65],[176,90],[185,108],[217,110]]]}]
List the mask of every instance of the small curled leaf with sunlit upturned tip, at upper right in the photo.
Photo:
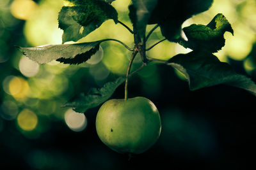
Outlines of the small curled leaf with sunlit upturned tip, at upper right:
[{"label": "small curled leaf with sunlit upturned tip, at upper right", "polygon": [[219,13],[208,25],[192,24],[183,29],[188,41],[181,41],[181,45],[193,50],[207,50],[218,52],[224,45],[224,33],[226,31],[234,34],[228,20]]}]

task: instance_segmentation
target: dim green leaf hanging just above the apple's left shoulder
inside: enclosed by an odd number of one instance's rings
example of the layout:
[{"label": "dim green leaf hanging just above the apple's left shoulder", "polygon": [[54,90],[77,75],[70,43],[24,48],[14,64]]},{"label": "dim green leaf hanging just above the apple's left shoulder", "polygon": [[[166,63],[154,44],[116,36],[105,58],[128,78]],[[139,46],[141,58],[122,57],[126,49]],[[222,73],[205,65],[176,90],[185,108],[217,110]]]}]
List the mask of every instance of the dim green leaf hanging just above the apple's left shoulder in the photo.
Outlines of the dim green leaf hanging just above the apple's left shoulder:
[{"label": "dim green leaf hanging just above the apple's left shoulder", "polygon": [[90,89],[88,94],[80,94],[80,96],[72,99],[65,106],[72,106],[73,110],[79,113],[84,113],[90,108],[95,108],[100,104],[104,103],[112,94],[115,92],[116,88],[124,83],[125,78],[120,77],[115,81],[110,81],[106,83],[100,89]]}]

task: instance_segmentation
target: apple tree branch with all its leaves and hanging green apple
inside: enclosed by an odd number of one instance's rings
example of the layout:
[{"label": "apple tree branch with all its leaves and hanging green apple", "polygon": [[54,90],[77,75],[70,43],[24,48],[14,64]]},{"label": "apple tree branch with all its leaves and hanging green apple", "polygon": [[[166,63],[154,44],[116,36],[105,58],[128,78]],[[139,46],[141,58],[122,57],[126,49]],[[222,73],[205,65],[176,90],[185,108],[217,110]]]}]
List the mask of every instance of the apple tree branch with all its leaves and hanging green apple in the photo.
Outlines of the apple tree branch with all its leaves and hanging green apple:
[{"label": "apple tree branch with all its leaves and hanging green apple", "polygon": [[[224,33],[234,34],[228,18],[218,13],[212,16],[212,20],[206,25],[191,24],[182,28],[182,24],[188,18],[209,10],[212,1],[132,0],[128,6],[131,28],[118,19],[118,13],[111,5],[113,1],[67,0],[58,15],[58,24],[63,30],[62,44],[19,48],[24,55],[39,64],[52,60],[64,64],[81,64],[97,53],[100,45],[106,41],[115,41],[131,51],[125,77],[120,76],[115,81],[109,81],[100,89],[92,87],[88,94],[82,93],[67,101],[64,106],[85,113],[104,103],[96,120],[100,139],[117,152],[141,153],[156,142],[161,131],[161,121],[156,106],[145,97],[132,99],[128,97],[129,78],[143,67],[149,64],[173,67],[184,74],[190,90],[225,84],[256,94],[256,85],[250,78],[236,73],[227,62],[221,62],[214,55],[225,46]],[[133,46],[113,38],[76,43],[99,28],[106,20],[113,20],[115,24],[123,25],[134,37]],[[147,25],[154,27],[147,32]],[[148,39],[157,28],[161,29],[164,39],[159,39],[157,43],[150,45]],[[68,41],[74,43],[67,43]],[[178,43],[192,51],[168,56],[168,60],[148,57],[148,51],[163,41]],[[138,56],[141,59],[141,66],[131,72],[133,61]],[[125,83],[124,99],[108,101],[123,83]]]}]

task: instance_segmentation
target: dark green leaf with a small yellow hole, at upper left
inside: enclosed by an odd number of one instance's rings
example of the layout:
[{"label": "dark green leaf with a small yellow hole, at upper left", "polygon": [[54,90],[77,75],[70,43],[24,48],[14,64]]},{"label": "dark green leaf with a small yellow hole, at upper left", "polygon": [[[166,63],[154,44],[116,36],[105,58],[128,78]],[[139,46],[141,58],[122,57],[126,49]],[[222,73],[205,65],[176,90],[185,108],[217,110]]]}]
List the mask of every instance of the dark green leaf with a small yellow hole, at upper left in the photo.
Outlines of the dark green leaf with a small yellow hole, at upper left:
[{"label": "dark green leaf with a small yellow hole, at upper left", "polygon": [[108,19],[118,22],[118,14],[105,1],[74,1],[76,6],[63,6],[59,13],[60,29],[63,29],[62,42],[77,41],[90,34]]}]

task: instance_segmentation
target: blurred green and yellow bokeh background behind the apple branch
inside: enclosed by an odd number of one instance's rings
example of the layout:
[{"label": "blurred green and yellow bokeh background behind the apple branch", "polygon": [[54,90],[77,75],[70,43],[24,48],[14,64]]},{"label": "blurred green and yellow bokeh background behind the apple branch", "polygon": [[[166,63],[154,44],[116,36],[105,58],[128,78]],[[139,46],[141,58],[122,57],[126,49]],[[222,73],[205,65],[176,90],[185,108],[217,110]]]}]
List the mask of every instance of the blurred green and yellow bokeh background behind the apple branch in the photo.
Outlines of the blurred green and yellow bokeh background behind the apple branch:
[{"label": "blurred green and yellow bokeh background behind the apple branch", "polygon": [[[132,27],[129,0],[116,0],[118,18]],[[162,133],[150,150],[128,160],[101,143],[95,131],[98,108],[84,115],[61,107],[91,87],[124,76],[131,52],[116,42],[102,43],[88,62],[68,66],[38,65],[17,46],[60,44],[58,12],[62,0],[0,0],[0,169],[249,169],[255,164],[255,96],[218,85],[189,91],[182,74],[150,64],[131,78],[129,96],[153,101],[161,114]],[[223,13],[234,29],[216,53],[237,73],[256,80],[256,1],[215,0],[209,11],[186,20],[207,24]],[[148,25],[147,31],[154,25]],[[108,20],[86,38],[115,38],[132,47],[132,35]],[[162,39],[157,29],[148,46]],[[186,53],[164,41],[148,52],[156,59]],[[140,66],[140,57],[133,69]],[[113,98],[124,97],[124,85]],[[252,154],[252,155],[251,155]]]}]

